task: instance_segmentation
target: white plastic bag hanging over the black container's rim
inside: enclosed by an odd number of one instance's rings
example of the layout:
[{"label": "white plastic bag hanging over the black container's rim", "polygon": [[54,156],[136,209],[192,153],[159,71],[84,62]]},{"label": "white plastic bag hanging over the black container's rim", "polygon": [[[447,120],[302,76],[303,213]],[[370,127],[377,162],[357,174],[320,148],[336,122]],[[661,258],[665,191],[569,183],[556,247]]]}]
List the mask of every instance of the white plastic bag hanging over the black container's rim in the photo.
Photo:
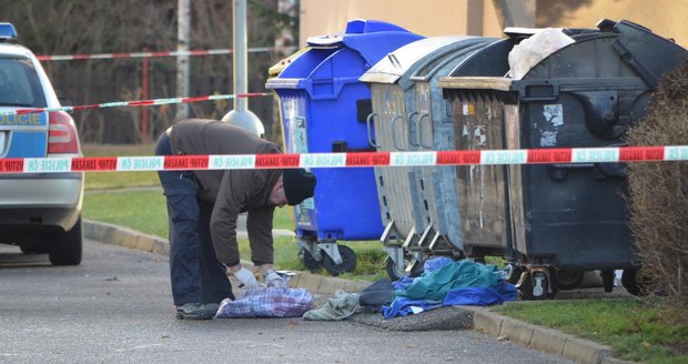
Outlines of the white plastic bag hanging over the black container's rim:
[{"label": "white plastic bag hanging over the black container's rim", "polygon": [[533,65],[573,42],[575,41],[564,34],[560,28],[545,28],[524,39],[509,52],[509,77],[522,79]]}]

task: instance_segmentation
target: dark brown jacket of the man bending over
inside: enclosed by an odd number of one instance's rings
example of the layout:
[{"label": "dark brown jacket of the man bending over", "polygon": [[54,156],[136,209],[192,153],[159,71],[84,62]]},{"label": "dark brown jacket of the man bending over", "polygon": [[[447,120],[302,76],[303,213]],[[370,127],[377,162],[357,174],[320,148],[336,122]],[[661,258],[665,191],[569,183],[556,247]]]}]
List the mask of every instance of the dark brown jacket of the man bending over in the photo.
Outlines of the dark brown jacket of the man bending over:
[{"label": "dark brown jacket of the man bending over", "polygon": [[[202,119],[176,123],[171,130],[170,146],[172,153],[188,155],[282,153],[277,144],[244,129]],[[275,206],[270,205],[269,196],[282,170],[196,170],[193,173],[199,183],[199,198],[214,203],[210,231],[220,262],[239,263],[236,219],[240,212],[247,212],[246,230],[251,246],[257,244],[270,251],[265,256],[254,254],[253,259],[273,263],[272,220]]]}]

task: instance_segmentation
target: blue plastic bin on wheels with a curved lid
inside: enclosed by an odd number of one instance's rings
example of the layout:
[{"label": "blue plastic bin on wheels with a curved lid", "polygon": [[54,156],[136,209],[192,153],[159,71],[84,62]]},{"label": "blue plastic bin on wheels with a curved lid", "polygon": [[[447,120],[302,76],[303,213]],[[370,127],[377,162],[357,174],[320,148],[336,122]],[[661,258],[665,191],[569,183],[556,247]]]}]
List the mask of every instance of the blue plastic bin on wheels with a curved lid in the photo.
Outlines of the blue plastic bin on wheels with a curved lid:
[{"label": "blue plastic bin on wheels with a curved lid", "polygon": [[[365,117],[371,94],[358,78],[388,52],[422,38],[374,20],[353,20],[342,36],[310,38],[310,49],[266,83],[280,98],[286,151],[370,151]],[[322,262],[333,275],[353,271],[353,251],[336,241],[376,240],[384,228],[373,169],[312,172],[315,195],[294,208],[304,263],[316,269]]]}]

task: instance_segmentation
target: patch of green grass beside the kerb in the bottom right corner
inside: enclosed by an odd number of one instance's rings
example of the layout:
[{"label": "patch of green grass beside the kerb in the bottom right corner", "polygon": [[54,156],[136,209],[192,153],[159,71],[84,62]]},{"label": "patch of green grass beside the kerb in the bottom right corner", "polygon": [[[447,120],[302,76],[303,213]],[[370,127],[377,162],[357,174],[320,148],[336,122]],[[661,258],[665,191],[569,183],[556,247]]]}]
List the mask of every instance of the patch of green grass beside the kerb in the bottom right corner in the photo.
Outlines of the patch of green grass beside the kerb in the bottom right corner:
[{"label": "patch of green grass beside the kerb in the bottom right corner", "polygon": [[627,361],[688,363],[686,317],[636,299],[516,302],[493,311],[607,344]]}]

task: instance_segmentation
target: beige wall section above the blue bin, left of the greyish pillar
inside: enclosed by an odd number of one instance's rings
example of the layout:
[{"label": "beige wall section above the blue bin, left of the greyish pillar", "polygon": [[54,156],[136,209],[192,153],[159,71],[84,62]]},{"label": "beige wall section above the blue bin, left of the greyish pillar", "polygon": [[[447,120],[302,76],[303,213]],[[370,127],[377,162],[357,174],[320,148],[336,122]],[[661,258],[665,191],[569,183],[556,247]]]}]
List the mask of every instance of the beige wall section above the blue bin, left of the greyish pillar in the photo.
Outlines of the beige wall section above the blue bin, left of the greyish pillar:
[{"label": "beige wall section above the blue bin, left of the greyish pillar", "polygon": [[301,0],[301,40],[336,34],[352,19],[388,21],[432,37],[502,37],[490,0]]}]

